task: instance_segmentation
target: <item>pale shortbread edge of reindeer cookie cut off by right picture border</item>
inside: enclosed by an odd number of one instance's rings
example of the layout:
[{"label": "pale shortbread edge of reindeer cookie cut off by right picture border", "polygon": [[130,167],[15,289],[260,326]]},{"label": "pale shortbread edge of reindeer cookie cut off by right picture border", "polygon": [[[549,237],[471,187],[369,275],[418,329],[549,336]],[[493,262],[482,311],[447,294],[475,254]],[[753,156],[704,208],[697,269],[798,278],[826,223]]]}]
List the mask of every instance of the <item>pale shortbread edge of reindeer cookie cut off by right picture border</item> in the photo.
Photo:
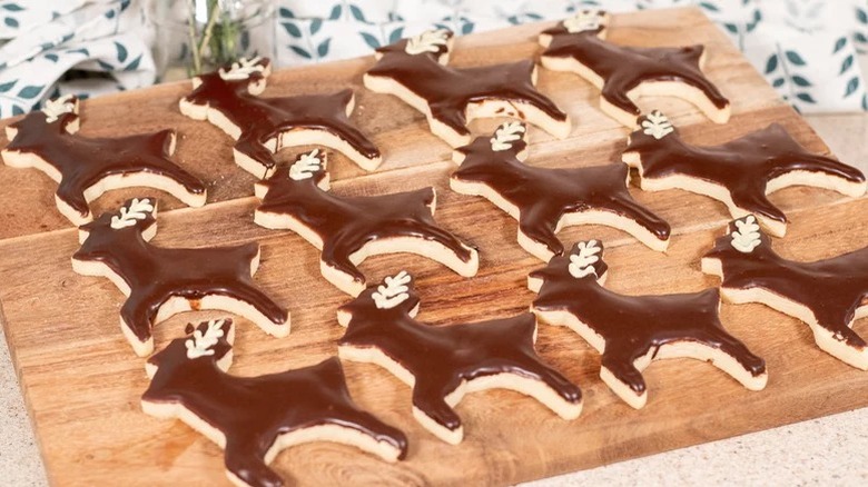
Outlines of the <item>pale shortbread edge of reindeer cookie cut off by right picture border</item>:
[{"label": "pale shortbread edge of reindeer cookie cut off by right picture border", "polygon": [[[720,259],[713,257],[703,257],[702,272],[718,276],[722,279],[723,268],[721,266]],[[744,289],[721,286],[720,294],[723,299],[734,305],[759,302],[768,306],[771,309],[775,309],[776,311],[789,315],[803,321],[810,327],[811,331],[813,332],[813,340],[821,350],[847,365],[861,370],[868,370],[868,347],[859,349],[847,345],[846,341],[836,337],[836,335],[829,329],[821,327],[817,320],[817,317],[813,315],[813,311],[811,311],[810,308],[806,307],[805,305],[760,287]],[[852,328],[856,320],[866,316],[868,316],[868,305],[856,308],[854,318],[849,324],[847,324],[847,327]]]}]

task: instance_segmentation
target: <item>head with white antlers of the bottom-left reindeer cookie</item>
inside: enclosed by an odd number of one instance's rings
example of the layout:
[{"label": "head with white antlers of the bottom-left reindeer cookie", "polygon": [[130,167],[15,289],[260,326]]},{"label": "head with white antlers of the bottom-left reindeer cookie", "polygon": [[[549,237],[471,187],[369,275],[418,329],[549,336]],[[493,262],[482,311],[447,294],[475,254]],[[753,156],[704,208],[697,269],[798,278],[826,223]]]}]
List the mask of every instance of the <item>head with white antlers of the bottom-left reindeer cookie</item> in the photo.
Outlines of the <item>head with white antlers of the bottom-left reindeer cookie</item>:
[{"label": "head with white antlers of the bottom-left reindeer cookie", "polygon": [[148,359],[146,368],[154,377],[161,367],[184,367],[195,362],[215,362],[224,371],[231,365],[235,328],[229,318],[188,324],[186,336],[176,338],[161,351]]}]

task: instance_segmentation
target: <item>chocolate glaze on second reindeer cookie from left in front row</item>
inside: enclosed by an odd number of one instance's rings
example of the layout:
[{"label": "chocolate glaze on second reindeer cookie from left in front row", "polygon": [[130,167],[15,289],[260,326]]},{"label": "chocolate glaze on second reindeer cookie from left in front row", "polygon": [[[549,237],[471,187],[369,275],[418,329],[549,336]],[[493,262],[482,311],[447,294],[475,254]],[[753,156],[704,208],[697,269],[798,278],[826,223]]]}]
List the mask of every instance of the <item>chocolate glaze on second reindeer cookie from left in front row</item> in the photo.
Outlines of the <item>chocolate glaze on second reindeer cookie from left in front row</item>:
[{"label": "chocolate glaze on second reindeer cookie from left in front row", "polygon": [[368,287],[338,315],[348,315],[346,334],[338,345],[376,348],[415,377],[413,406],[450,430],[461,427],[461,418],[445,397],[476,378],[514,374],[540,380],[571,404],[580,404],[579,387],[542,362],[534,350],[536,319],[530,312],[512,318],[472,324],[430,326],[415,320],[420,305],[415,285],[407,298],[394,308],[378,308]]}]

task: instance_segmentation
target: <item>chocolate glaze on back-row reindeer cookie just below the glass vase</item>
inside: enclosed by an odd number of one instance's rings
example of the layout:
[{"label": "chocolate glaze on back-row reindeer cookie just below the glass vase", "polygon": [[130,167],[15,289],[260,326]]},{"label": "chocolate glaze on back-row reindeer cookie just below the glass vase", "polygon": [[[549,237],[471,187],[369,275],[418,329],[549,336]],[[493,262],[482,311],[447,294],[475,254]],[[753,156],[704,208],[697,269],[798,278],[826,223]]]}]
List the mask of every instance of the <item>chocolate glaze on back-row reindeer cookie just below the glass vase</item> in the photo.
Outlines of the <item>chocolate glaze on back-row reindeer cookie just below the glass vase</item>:
[{"label": "chocolate glaze on back-row reindeer cookie just below the glass vase", "polygon": [[[270,61],[259,64],[265,72]],[[247,79],[225,80],[218,72],[200,74],[200,85],[185,100],[207,105],[219,110],[240,130],[235,149],[263,165],[268,173],[277,165],[264,143],[277,137],[277,148],[284,147],[280,135],[293,130],[325,130],[345,140],[367,158],[379,157],[379,150],[347,118],[346,108],[353,100],[353,90],[331,95],[259,98],[249,93],[251,85],[265,83],[266,74],[255,71]],[[233,135],[235,137],[235,135]]]}]

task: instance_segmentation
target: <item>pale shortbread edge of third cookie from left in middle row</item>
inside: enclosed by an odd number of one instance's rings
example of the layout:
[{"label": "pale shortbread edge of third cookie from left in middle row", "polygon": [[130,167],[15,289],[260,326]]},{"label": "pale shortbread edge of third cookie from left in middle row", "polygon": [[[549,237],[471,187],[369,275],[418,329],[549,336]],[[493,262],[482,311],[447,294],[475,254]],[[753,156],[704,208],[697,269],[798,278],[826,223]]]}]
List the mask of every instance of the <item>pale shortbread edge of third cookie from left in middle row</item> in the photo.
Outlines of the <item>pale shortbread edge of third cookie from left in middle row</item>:
[{"label": "pale shortbread edge of third cookie from left in middle row", "polygon": [[[519,207],[507,201],[501,196],[500,192],[495,191],[492,187],[484,182],[466,181],[458,179],[453,175],[450,178],[450,188],[461,195],[481,196],[493,202],[494,206],[505,211],[515,220],[521,221]],[[560,220],[558,220],[554,232],[558,233],[564,227],[574,227],[580,225],[604,225],[606,227],[625,231],[650,249],[657,250],[659,252],[665,251],[669,247],[668,238],[665,240],[660,240],[657,238],[657,236],[654,236],[654,233],[639,225],[635,220],[605,210],[565,212],[563,216],[561,216]],[[548,262],[552,257],[554,257],[554,254],[552,254],[544,244],[537,242],[536,240],[533,240],[527,235],[525,235],[521,229],[521,225],[519,226],[517,239],[519,245],[524,250],[544,262]]]}]

